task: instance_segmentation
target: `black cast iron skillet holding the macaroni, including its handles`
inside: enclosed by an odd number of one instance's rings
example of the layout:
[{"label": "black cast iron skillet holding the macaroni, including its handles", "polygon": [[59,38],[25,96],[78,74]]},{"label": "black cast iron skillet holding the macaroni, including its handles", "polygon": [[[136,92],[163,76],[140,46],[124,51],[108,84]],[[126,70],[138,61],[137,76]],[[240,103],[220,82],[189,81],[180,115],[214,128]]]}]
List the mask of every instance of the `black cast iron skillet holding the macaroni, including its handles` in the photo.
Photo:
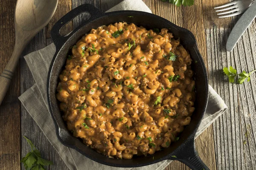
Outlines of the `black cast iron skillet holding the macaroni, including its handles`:
[{"label": "black cast iron skillet holding the macaroni, including its handles", "polygon": [[[72,33],[66,37],[59,34],[59,30],[70,20],[78,14],[87,11],[90,14],[89,20],[81,24]],[[128,17],[133,16],[133,17]],[[67,129],[64,120],[61,117],[59,110],[59,102],[56,99],[56,87],[58,85],[58,75],[64,68],[67,59],[67,53],[70,47],[81,37],[88,33],[92,28],[98,28],[102,25],[109,25],[111,23],[122,22],[134,23],[137,26],[143,26],[147,29],[153,28],[169,28],[173,33],[175,39],[180,38],[181,44],[189,51],[193,59],[193,69],[195,71],[195,88],[196,88],[196,101],[195,112],[191,117],[191,123],[185,127],[184,131],[180,134],[180,139],[173,142],[170,147],[157,151],[154,155],[150,156],[134,156],[132,159],[112,159],[97,153],[95,150],[87,147],[81,142],[80,139],[74,137]],[[158,17],[157,15],[140,12],[140,11],[115,11],[109,13],[102,13],[90,4],[81,5],[64,17],[52,27],[51,31],[52,40],[56,46],[56,52],[52,59],[49,68],[47,93],[49,111],[52,119],[55,122],[56,133],[58,139],[67,147],[71,147],[81,154],[93,161],[101,164],[106,164],[113,167],[141,167],[149,164],[154,164],[166,159],[178,160],[188,165],[193,170],[208,170],[209,168],[199,158],[195,150],[194,137],[201,122],[208,102],[208,79],[204,61],[198,51],[194,35],[184,29],[176,26],[168,20]],[[195,62],[197,61],[197,62]]]}]

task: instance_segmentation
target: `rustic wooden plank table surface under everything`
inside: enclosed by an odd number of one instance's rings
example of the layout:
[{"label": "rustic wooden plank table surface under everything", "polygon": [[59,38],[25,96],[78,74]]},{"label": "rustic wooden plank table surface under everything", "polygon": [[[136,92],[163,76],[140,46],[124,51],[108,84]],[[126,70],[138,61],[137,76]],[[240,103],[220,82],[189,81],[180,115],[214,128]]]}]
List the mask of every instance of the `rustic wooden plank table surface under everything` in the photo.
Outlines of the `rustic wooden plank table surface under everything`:
[{"label": "rustic wooden plank table surface under everything", "polygon": [[[58,153],[36,125],[18,96],[34,85],[34,80],[23,58],[32,51],[46,47],[51,41],[50,30],[54,23],[72,8],[91,3],[106,11],[122,0],[59,0],[50,23],[27,45],[20,58],[9,91],[0,106],[0,169],[24,169],[20,159],[28,152],[25,135],[41,151],[45,159],[54,165],[48,169],[68,170]],[[204,57],[209,84],[221,95],[228,111],[221,115],[195,141],[202,160],[211,170],[252,170],[256,167],[256,74],[243,85],[228,83],[222,68],[234,66],[241,72],[256,69],[256,20],[245,31],[230,53],[225,43],[234,23],[240,16],[218,19],[213,7],[229,0],[195,0],[191,7],[176,7],[161,0],[143,0],[154,14],[192,31],[199,51]],[[16,0],[0,1],[0,73],[12,55],[15,44],[14,11]],[[79,26],[86,16],[80,16],[67,24],[68,33]],[[254,57],[253,57],[254,56]],[[35,106],[36,107],[36,106]],[[172,161],[166,170],[186,170],[186,165]]]}]

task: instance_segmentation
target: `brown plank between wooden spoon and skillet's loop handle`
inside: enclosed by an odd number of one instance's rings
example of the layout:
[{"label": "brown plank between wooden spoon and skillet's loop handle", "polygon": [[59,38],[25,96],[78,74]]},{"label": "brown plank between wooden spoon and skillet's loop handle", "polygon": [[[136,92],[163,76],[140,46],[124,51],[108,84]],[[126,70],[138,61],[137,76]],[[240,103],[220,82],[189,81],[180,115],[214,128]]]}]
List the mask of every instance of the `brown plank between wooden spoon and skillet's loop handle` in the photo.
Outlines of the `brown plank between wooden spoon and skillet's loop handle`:
[{"label": "brown plank between wooden spoon and skillet's loop handle", "polygon": [[[67,14],[72,9],[72,0],[58,0],[58,6],[56,8],[56,11],[52,17],[52,20],[50,20],[49,24],[46,26],[46,38],[51,37],[51,29],[54,24],[61,19],[65,14]],[[67,23],[65,26],[61,28],[60,34],[66,35],[72,31],[72,21]]]}]

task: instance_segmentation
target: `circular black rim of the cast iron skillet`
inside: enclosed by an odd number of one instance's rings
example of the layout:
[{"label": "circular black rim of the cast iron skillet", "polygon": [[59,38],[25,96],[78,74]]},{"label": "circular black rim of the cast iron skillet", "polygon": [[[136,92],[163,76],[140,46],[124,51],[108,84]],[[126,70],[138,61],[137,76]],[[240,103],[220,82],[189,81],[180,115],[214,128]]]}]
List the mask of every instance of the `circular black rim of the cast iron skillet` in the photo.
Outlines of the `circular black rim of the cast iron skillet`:
[{"label": "circular black rim of the cast iron skillet", "polygon": [[[76,9],[76,8],[75,8]],[[74,10],[74,9],[73,9]],[[61,45],[61,47],[58,46],[58,44],[55,44],[56,46],[56,51],[55,51],[55,55],[54,57],[52,58],[52,62],[50,64],[50,67],[49,67],[49,72],[48,72],[48,77],[47,77],[47,101],[48,101],[48,106],[49,106],[49,112],[52,116],[52,119],[54,121],[54,124],[55,124],[55,130],[56,130],[56,134],[57,134],[57,137],[58,137],[58,140],[64,144],[65,146],[67,147],[70,147],[70,148],[73,148],[77,151],[79,151],[79,153],[81,153],[82,155],[86,156],[87,158],[93,160],[93,161],[96,161],[96,162],[99,162],[101,164],[105,164],[105,165],[109,165],[109,166],[114,166],[114,167],[142,167],[142,166],[145,166],[145,165],[149,165],[149,164],[154,164],[154,163],[157,163],[157,162],[160,162],[160,161],[163,161],[163,160],[166,160],[166,159],[173,159],[173,158],[170,158],[170,155],[172,153],[174,153],[176,150],[179,150],[180,147],[184,146],[186,142],[183,142],[181,143],[175,150],[173,150],[172,152],[168,153],[168,155],[164,156],[164,157],[161,157],[160,159],[156,159],[154,161],[150,161],[148,163],[140,163],[140,164],[132,164],[132,165],[127,165],[127,164],[112,164],[112,163],[108,163],[108,162],[105,162],[105,161],[102,161],[100,159],[95,159],[94,157],[84,153],[84,151],[80,150],[76,145],[70,145],[70,144],[67,144],[63,139],[61,139],[60,137],[60,134],[59,134],[59,125],[55,119],[55,116],[54,116],[54,113],[52,112],[52,107],[57,107],[58,108],[58,105],[57,103],[55,103],[55,105],[53,105],[51,103],[51,92],[50,92],[50,83],[51,83],[51,74],[52,73],[52,68],[54,67],[54,62],[59,54],[59,52],[61,51],[61,49],[63,48],[63,45],[70,39],[72,39],[72,37],[76,34],[77,31],[79,31],[79,29],[83,28],[84,26],[86,26],[86,24],[88,23],[92,23],[92,22],[96,22],[96,20],[98,20],[99,18],[101,17],[107,17],[107,16],[111,16],[112,14],[129,14],[129,15],[133,15],[133,14],[143,14],[143,15],[148,15],[147,17],[157,17],[159,20],[161,20],[161,22],[166,22],[170,25],[173,26],[173,28],[177,29],[177,31],[181,31],[181,32],[185,32],[187,34],[189,34],[192,38],[192,40],[194,40],[193,42],[193,49],[195,50],[196,54],[198,55],[198,59],[200,59],[200,62],[201,62],[201,65],[202,66],[202,70],[203,70],[203,74],[204,74],[204,84],[206,84],[206,87],[205,87],[205,90],[206,90],[206,95],[205,95],[205,98],[204,98],[204,106],[201,106],[203,107],[203,113],[201,113],[201,116],[200,116],[200,120],[198,121],[197,125],[195,126],[195,129],[193,130],[192,133],[189,134],[188,136],[188,141],[189,140],[194,140],[194,137],[195,137],[195,133],[196,131],[198,130],[198,127],[199,125],[201,124],[201,121],[202,121],[202,118],[205,114],[205,111],[206,111],[206,108],[207,108],[207,103],[208,103],[208,98],[209,98],[209,88],[208,88],[208,76],[207,76],[207,70],[206,70],[206,67],[205,67],[205,64],[204,64],[204,60],[198,50],[198,45],[197,45],[197,42],[196,42],[196,39],[195,39],[195,36],[192,34],[191,31],[187,30],[186,28],[182,28],[182,27],[179,27],[177,25],[175,25],[174,23],[170,22],[169,20],[166,20],[164,19],[163,17],[159,17],[155,14],[151,14],[151,13],[147,13],[147,12],[143,12],[143,11],[113,11],[113,12],[108,12],[108,13],[102,13],[100,12],[101,14],[99,16],[97,16],[96,18],[93,18],[92,20],[87,20],[86,22],[82,23],[78,28],[74,29],[67,37],[66,37],[66,40],[64,41],[64,43]],[[57,22],[58,23],[58,22]],[[64,26],[64,25],[63,25]],[[54,28],[54,27],[53,27]],[[51,31],[51,34],[53,32]],[[55,43],[55,41],[54,41]],[[52,80],[53,81],[53,80]],[[55,95],[55,94],[54,94]],[[64,120],[63,120],[64,121]],[[73,137],[72,135],[70,135],[70,137]],[[87,147],[86,145],[84,145],[85,147]],[[175,159],[173,159],[175,160]],[[178,160],[178,159],[177,159]]]}]

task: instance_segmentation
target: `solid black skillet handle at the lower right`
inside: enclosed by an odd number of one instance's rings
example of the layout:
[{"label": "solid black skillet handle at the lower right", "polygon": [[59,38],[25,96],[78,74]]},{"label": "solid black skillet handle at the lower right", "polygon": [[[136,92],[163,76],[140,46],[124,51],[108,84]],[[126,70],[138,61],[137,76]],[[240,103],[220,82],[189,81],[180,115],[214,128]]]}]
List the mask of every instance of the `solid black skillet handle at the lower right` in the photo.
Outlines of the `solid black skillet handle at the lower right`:
[{"label": "solid black skillet handle at the lower right", "polygon": [[193,138],[185,142],[180,149],[169,157],[169,159],[180,161],[186,164],[192,170],[209,170],[206,164],[204,164],[204,162],[198,156],[198,153],[195,150],[195,140]]}]

